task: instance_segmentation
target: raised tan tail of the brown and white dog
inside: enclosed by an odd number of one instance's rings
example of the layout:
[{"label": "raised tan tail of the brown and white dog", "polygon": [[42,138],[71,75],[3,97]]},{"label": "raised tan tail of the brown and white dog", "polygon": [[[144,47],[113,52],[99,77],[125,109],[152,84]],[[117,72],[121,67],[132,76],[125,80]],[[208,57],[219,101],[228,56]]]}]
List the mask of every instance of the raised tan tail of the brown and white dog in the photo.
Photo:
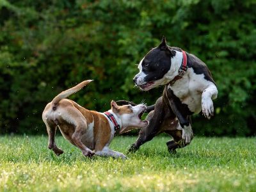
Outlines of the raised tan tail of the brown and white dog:
[{"label": "raised tan tail of the brown and white dog", "polygon": [[64,92],[61,92],[59,95],[57,95],[56,97],[54,97],[54,99],[52,100],[52,109],[56,110],[56,107],[58,105],[58,103],[60,102],[61,99],[67,98],[69,95],[72,95],[73,93],[78,92],[79,90],[81,90],[84,86],[86,86],[86,84],[90,83],[93,80],[86,80],[83,81],[79,84],[77,84],[76,86],[65,90]]}]

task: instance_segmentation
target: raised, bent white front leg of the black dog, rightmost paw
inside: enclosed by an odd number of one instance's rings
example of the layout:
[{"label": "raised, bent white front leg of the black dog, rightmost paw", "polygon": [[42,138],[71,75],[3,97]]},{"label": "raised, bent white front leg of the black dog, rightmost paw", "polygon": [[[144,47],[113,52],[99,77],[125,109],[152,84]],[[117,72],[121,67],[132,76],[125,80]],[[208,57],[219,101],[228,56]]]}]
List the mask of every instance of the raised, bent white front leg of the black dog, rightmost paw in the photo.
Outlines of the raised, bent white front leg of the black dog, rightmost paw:
[{"label": "raised, bent white front leg of the black dog, rightmost paw", "polygon": [[218,95],[218,90],[215,84],[209,85],[202,93],[202,113],[208,119],[213,116],[214,107],[212,99],[216,99]]}]

